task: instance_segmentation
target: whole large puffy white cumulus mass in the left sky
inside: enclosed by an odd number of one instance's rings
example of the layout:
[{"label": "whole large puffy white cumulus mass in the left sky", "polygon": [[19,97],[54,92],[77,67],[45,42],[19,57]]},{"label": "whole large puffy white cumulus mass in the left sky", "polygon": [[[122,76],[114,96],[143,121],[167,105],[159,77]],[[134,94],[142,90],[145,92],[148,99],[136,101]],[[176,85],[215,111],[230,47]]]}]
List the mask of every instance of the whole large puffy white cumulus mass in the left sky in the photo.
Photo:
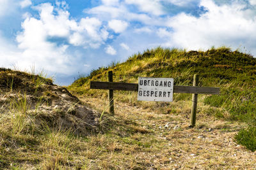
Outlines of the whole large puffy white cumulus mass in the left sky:
[{"label": "whole large puffy white cumulus mass in the left sky", "polygon": [[71,68],[76,64],[76,56],[68,54],[68,48],[72,45],[99,48],[108,39],[108,31],[99,19],[86,17],[76,21],[70,19],[65,3],[57,6],[44,3],[34,7],[39,11],[39,18],[24,15],[22,31],[16,38],[22,50],[19,67],[34,63],[54,73],[65,74],[67,70],[74,73],[76,69]]}]

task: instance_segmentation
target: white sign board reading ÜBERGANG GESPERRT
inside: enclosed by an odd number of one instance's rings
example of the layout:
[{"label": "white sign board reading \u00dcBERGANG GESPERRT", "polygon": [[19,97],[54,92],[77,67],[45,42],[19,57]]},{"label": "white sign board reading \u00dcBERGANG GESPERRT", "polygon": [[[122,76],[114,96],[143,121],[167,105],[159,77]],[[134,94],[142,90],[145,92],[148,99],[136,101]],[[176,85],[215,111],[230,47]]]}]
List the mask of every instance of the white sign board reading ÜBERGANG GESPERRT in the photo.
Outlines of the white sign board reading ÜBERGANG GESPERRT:
[{"label": "white sign board reading \u00dcBERGANG GESPERRT", "polygon": [[172,102],[173,78],[139,77],[138,101]]}]

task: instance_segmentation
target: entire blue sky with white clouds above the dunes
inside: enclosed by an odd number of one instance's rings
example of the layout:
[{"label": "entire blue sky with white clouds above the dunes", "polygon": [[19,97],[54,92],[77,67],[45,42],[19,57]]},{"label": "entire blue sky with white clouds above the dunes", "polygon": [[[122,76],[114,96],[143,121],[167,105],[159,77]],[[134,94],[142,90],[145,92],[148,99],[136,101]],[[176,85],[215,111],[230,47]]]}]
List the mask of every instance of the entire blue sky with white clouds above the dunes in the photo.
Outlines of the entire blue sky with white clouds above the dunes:
[{"label": "entire blue sky with white clouds above the dunes", "polygon": [[1,67],[79,74],[156,46],[256,55],[256,0],[0,0]]}]

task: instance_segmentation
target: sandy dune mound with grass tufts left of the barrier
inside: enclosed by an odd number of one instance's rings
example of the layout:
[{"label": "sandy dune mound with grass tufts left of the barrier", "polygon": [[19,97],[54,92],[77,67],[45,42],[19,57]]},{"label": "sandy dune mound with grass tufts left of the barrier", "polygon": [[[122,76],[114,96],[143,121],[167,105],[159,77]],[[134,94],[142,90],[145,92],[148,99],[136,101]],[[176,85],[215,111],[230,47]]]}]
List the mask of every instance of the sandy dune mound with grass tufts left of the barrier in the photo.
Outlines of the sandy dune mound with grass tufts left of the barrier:
[{"label": "sandy dune mound with grass tufts left of the barrier", "polygon": [[99,131],[99,113],[48,78],[0,68],[0,91],[0,169],[67,162],[74,136]]}]

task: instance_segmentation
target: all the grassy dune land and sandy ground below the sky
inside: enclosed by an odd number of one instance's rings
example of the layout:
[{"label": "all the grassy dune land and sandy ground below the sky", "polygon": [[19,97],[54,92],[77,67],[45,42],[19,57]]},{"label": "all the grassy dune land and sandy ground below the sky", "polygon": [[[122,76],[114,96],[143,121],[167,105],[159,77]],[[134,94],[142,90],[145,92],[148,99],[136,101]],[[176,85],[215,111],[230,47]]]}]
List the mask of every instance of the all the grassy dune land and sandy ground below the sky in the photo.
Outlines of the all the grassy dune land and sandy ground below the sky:
[{"label": "all the grassy dune land and sandy ground below the sky", "polygon": [[[163,103],[115,91],[111,115],[107,91],[89,86],[109,70],[118,82],[172,77],[175,85],[192,85],[196,73],[221,94],[198,96],[195,128],[191,94]],[[159,47],[78,78],[67,87],[72,96],[42,75],[1,69],[0,169],[255,169],[255,73],[256,59],[229,48]],[[97,111],[83,119],[85,106]]]}]

